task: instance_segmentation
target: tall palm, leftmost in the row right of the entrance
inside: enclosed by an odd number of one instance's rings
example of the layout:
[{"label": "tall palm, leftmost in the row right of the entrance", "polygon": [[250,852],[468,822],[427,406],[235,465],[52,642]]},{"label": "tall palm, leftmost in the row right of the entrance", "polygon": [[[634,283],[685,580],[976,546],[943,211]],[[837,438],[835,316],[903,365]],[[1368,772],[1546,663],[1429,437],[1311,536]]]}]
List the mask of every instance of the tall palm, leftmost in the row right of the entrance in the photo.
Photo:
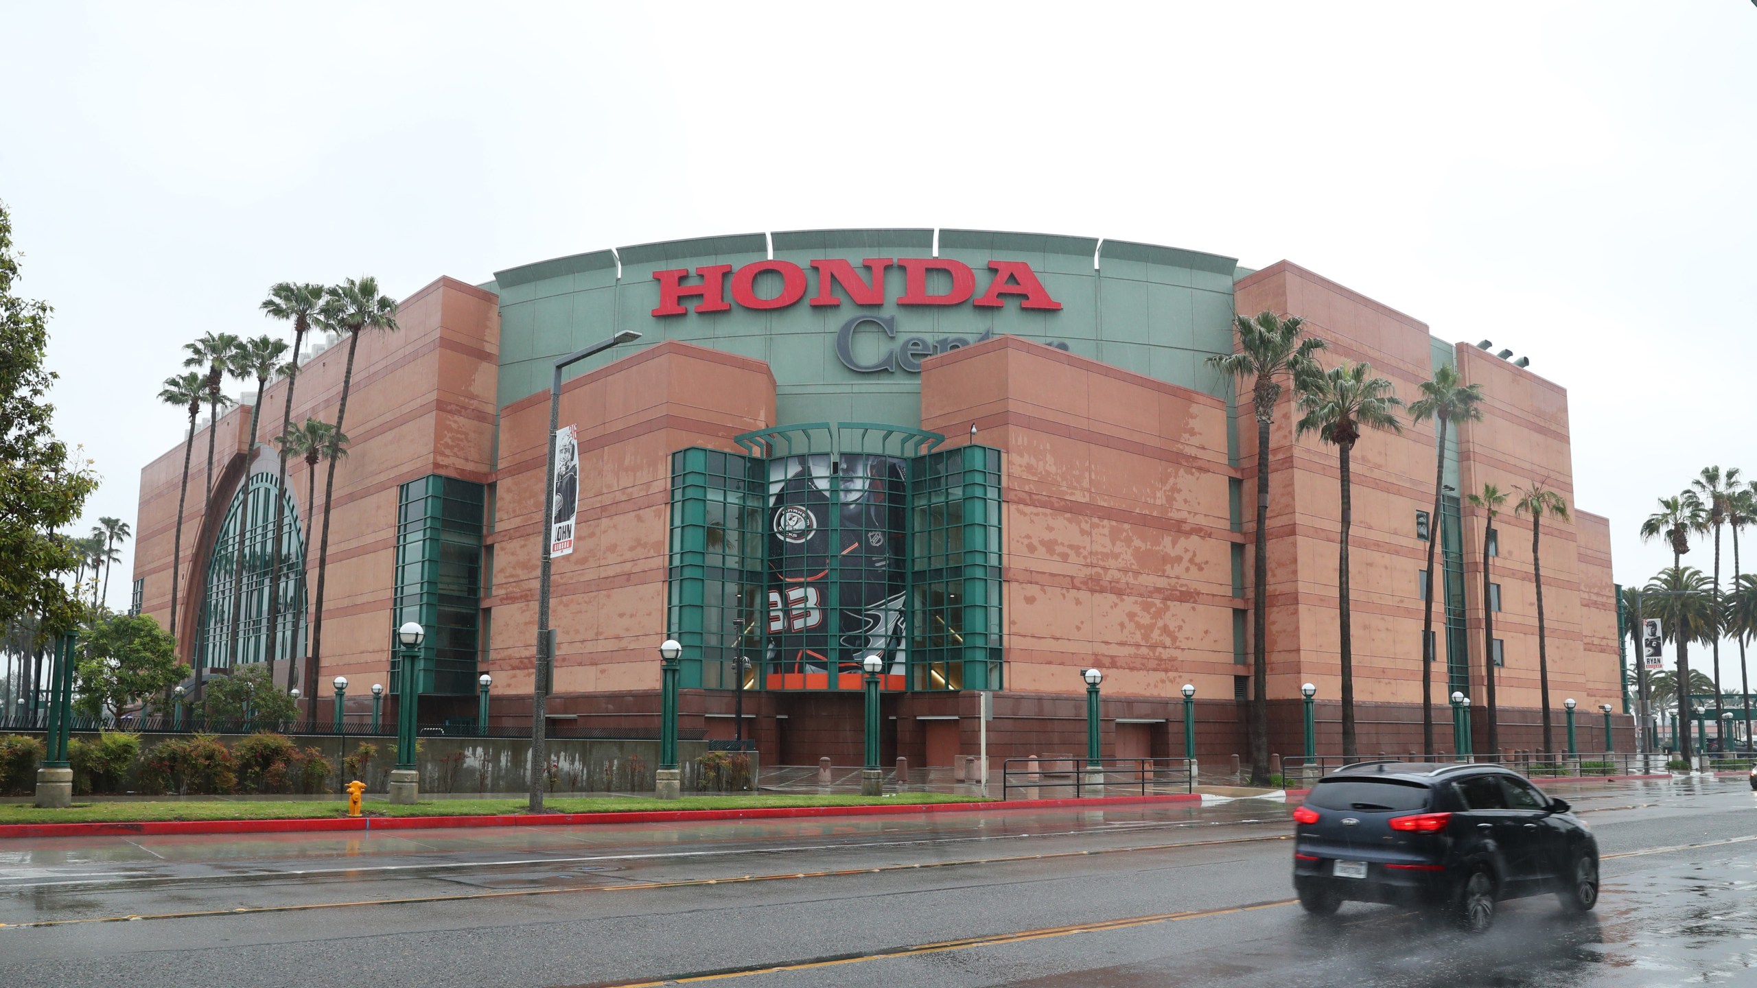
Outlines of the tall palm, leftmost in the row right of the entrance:
[{"label": "tall palm, leftmost in the row right of the entrance", "polygon": [[1269,425],[1281,401],[1281,380],[1288,378],[1298,389],[1302,381],[1320,373],[1312,353],[1325,348],[1323,339],[1304,336],[1305,320],[1281,318],[1262,311],[1256,318],[1233,316],[1237,353],[1216,353],[1209,366],[1232,378],[1251,378],[1251,408],[1256,413],[1256,534],[1254,534],[1254,592],[1251,599],[1251,782],[1269,784]]}]

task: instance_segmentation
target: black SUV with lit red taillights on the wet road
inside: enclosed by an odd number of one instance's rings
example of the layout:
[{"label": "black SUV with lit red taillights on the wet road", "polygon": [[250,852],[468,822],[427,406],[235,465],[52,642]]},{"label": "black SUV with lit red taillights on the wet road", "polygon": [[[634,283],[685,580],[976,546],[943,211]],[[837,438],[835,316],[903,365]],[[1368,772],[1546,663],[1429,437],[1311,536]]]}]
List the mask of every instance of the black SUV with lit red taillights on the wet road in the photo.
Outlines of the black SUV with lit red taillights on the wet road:
[{"label": "black SUV with lit red taillights on the wet road", "polygon": [[1293,821],[1293,888],[1318,916],[1385,902],[1486,930],[1502,898],[1553,891],[1576,912],[1599,900],[1587,825],[1497,765],[1349,765],[1320,779]]}]

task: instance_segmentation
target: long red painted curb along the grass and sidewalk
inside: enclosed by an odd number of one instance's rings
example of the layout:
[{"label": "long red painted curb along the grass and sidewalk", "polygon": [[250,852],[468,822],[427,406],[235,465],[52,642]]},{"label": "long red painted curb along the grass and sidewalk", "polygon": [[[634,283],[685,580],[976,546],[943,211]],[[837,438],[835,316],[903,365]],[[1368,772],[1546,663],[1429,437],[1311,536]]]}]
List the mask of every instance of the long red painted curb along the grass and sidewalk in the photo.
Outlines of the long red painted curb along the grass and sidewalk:
[{"label": "long red painted curb along the grass and sidewalk", "polygon": [[1121,807],[1140,803],[1188,803],[1200,793],[1170,796],[1103,796],[1086,800],[1012,800],[989,803],[893,803],[870,807],[750,807],[724,810],[629,810],[629,812],[555,812],[501,816],[378,816],[378,817],[302,817],[302,819],[160,819],[142,823],[7,823],[7,837],[116,837],[155,833],[306,833],[355,830],[430,830],[455,826],[578,826],[606,823],[706,823],[722,819],[801,819],[838,816],[894,816],[984,810],[1047,810],[1084,807]]}]

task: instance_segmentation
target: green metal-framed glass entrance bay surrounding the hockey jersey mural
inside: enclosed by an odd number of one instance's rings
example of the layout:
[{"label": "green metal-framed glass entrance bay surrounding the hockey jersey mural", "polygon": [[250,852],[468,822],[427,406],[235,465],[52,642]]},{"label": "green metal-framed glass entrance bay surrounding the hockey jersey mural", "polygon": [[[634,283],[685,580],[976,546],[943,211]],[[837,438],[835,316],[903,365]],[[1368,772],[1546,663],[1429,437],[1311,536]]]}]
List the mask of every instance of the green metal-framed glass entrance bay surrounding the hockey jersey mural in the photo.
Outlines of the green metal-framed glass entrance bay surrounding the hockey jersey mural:
[{"label": "green metal-framed glass entrance bay surrounding the hockey jersey mural", "polygon": [[[680,686],[734,689],[743,659],[745,689],[794,689],[770,656],[770,461],[829,455],[840,464],[857,454],[898,461],[907,485],[903,531],[864,533],[905,547],[905,689],[1001,689],[1000,450],[933,452],[942,436],[873,422],[813,422],[734,441],[747,452],[692,447],[671,455],[668,619],[683,645]],[[840,471],[828,480],[836,498]],[[843,589],[836,557],[826,573],[819,589],[835,608]],[[845,657],[828,657],[826,668],[845,666]],[[831,672],[822,689],[842,689],[840,677]]]}]

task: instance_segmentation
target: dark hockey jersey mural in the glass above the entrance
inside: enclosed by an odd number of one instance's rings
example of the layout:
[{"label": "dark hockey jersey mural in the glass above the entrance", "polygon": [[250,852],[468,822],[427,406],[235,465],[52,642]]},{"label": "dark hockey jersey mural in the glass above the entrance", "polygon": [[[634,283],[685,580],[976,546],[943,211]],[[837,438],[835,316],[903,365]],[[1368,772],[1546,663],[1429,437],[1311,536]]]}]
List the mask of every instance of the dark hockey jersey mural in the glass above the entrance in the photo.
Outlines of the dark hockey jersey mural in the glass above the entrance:
[{"label": "dark hockey jersey mural in the glass above the entrance", "polygon": [[815,454],[768,471],[768,687],[859,689],[880,656],[882,687],[903,689],[905,461]]}]

